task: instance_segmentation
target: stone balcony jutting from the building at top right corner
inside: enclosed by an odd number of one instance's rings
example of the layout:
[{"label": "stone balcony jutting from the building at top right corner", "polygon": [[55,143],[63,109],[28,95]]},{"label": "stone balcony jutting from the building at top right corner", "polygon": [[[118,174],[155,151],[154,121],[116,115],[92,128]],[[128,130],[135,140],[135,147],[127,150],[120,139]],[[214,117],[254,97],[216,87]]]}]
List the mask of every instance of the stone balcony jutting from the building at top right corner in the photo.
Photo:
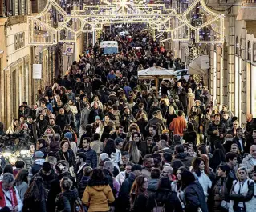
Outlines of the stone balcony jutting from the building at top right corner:
[{"label": "stone balcony jutting from the building at top right corner", "polygon": [[256,37],[256,0],[246,0],[238,10],[238,21],[246,21],[246,30]]}]

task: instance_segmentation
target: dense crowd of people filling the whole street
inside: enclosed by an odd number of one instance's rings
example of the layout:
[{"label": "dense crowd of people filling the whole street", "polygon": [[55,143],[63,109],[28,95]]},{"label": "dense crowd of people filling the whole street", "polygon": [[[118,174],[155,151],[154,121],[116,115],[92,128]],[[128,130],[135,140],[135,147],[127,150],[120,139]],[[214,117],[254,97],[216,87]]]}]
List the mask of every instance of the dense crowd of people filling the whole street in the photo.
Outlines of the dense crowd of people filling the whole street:
[{"label": "dense crowd of people filling the whole street", "polygon": [[132,26],[99,45],[39,94],[22,102],[0,135],[26,135],[32,162],[1,163],[0,211],[251,212],[256,206],[256,120],[246,129],[213,105],[203,82],[181,76],[156,84],[138,71],[185,63]]}]

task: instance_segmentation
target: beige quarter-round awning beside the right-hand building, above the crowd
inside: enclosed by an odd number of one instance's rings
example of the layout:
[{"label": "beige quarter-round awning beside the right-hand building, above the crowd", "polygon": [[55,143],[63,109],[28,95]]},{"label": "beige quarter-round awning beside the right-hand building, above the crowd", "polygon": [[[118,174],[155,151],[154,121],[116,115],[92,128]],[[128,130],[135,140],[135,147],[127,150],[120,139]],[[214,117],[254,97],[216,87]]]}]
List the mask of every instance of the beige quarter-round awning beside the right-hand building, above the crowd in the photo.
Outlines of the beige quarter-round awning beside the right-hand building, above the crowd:
[{"label": "beige quarter-round awning beside the right-hand building, above the crowd", "polygon": [[201,55],[189,64],[187,74],[207,75],[209,69],[209,56]]}]

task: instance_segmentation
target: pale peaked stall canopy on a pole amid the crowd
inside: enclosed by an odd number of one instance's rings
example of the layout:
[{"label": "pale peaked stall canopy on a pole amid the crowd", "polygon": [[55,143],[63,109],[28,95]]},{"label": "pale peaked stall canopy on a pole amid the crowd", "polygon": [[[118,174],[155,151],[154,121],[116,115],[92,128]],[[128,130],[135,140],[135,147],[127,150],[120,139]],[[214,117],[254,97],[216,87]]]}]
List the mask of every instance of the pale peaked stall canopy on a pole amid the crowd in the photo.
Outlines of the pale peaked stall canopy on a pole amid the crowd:
[{"label": "pale peaked stall canopy on a pole amid the crowd", "polygon": [[173,70],[168,70],[162,67],[153,66],[151,68],[138,71],[138,77],[140,79],[155,79],[156,80],[156,98],[158,98],[158,79],[171,78],[176,76]]}]

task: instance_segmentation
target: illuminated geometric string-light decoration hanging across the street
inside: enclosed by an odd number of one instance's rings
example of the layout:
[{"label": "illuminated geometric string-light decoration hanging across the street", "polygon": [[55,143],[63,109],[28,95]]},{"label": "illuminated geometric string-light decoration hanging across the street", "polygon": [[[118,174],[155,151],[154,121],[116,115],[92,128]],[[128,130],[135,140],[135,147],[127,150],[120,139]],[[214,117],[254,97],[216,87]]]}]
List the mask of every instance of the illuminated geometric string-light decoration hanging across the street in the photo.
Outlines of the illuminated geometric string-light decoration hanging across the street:
[{"label": "illuminated geometric string-light decoration hanging across the street", "polygon": [[[76,42],[82,32],[92,32],[100,38],[104,25],[118,23],[148,23],[151,34],[165,33],[174,41],[189,40],[191,31],[195,42],[224,42],[224,15],[217,14],[205,6],[204,0],[184,0],[169,5],[145,0],[102,0],[97,5],[65,5],[60,0],[47,0],[43,11],[27,18],[30,45],[54,45],[57,42]],[[210,31],[209,39],[202,36]],[[161,36],[161,39],[163,37]],[[207,40],[205,40],[207,38]]]}]

